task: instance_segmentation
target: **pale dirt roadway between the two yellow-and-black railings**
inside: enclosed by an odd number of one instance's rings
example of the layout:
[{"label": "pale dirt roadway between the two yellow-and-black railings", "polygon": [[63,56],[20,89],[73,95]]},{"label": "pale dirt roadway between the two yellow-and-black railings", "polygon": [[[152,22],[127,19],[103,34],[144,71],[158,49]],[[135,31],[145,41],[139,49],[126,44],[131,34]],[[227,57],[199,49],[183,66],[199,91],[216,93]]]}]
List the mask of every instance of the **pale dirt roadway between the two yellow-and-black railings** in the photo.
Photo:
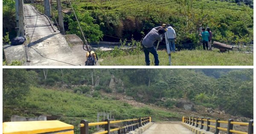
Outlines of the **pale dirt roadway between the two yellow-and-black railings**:
[{"label": "pale dirt roadway between the two yellow-and-black railings", "polygon": [[194,134],[179,123],[180,122],[155,123],[142,134]]}]

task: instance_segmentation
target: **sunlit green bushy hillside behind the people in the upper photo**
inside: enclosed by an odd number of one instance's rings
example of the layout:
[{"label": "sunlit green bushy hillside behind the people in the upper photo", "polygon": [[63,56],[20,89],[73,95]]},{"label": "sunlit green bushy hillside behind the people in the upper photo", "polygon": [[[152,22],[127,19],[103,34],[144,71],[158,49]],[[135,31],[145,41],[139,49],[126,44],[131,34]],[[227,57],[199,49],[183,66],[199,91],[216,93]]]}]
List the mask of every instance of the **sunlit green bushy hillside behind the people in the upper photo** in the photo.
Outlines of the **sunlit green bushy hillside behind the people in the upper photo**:
[{"label": "sunlit green bushy hillside behind the people in the upper photo", "polygon": [[[71,6],[63,0],[67,34],[78,34]],[[171,24],[177,48],[200,45],[198,28],[209,26],[212,40],[230,45],[253,43],[253,0],[71,0],[89,43],[141,40],[152,28]],[[3,0],[3,43],[16,37],[15,0]],[[56,3],[52,11],[58,17]],[[56,22],[55,22],[56,23]],[[82,37],[81,37],[82,38]],[[188,47],[189,46],[189,47]]]}]

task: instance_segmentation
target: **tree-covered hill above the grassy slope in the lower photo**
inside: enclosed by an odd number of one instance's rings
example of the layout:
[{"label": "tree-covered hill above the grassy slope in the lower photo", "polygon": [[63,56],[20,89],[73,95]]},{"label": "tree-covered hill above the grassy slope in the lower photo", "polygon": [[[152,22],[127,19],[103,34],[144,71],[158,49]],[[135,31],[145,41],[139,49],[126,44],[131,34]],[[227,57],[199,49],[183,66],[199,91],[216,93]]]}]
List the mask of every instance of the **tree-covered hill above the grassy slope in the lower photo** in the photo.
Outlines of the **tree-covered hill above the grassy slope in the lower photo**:
[{"label": "tree-covered hill above the grassy slope in the lower photo", "polygon": [[[183,98],[253,117],[253,69],[3,69],[3,78],[4,104],[28,95],[32,84],[92,96],[119,92],[166,108]],[[166,102],[157,101],[163,97]]]}]

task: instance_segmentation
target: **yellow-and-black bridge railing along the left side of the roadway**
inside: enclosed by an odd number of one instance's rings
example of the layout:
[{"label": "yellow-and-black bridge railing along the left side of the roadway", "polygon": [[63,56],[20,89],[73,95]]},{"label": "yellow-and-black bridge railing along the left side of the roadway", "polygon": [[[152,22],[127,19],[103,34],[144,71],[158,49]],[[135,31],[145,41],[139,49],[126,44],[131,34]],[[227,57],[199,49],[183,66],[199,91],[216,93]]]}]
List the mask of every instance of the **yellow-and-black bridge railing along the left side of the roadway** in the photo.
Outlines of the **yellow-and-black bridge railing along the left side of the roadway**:
[{"label": "yellow-and-black bridge railing along the left side of the roadway", "polygon": [[[104,125],[105,131],[97,132],[94,134],[110,134],[110,132],[117,131],[118,134],[121,132],[128,133],[129,131],[134,131],[136,128],[144,126],[151,122],[151,117],[141,117],[136,119],[128,119],[128,120],[116,120],[110,121],[109,119],[105,119],[104,122],[97,123],[89,123],[87,120],[81,120],[80,124],[80,134],[89,134],[89,127],[95,125]],[[124,126],[119,126],[117,128],[111,129],[111,124],[114,123],[123,123]]]}]

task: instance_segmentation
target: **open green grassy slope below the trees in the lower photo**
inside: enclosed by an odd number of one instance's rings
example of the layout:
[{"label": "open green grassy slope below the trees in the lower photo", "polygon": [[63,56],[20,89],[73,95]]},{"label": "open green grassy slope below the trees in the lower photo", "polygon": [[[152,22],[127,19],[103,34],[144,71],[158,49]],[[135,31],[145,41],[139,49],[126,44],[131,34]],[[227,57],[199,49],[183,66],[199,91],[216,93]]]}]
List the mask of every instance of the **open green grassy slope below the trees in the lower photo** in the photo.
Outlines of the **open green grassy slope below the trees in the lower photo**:
[{"label": "open green grassy slope below the trees in the lower photo", "polygon": [[[6,104],[4,104],[6,105]],[[74,94],[68,91],[58,91],[32,87],[29,96],[12,105],[6,105],[3,110],[4,120],[9,121],[12,115],[34,117],[48,115],[48,120],[61,120],[75,126],[76,134],[80,129],[77,125],[85,119],[96,122],[97,112],[111,112],[116,120],[151,116],[154,121],[181,120],[182,115],[152,109],[148,107],[133,107],[128,103],[104,97],[86,97],[84,94]]]}]

